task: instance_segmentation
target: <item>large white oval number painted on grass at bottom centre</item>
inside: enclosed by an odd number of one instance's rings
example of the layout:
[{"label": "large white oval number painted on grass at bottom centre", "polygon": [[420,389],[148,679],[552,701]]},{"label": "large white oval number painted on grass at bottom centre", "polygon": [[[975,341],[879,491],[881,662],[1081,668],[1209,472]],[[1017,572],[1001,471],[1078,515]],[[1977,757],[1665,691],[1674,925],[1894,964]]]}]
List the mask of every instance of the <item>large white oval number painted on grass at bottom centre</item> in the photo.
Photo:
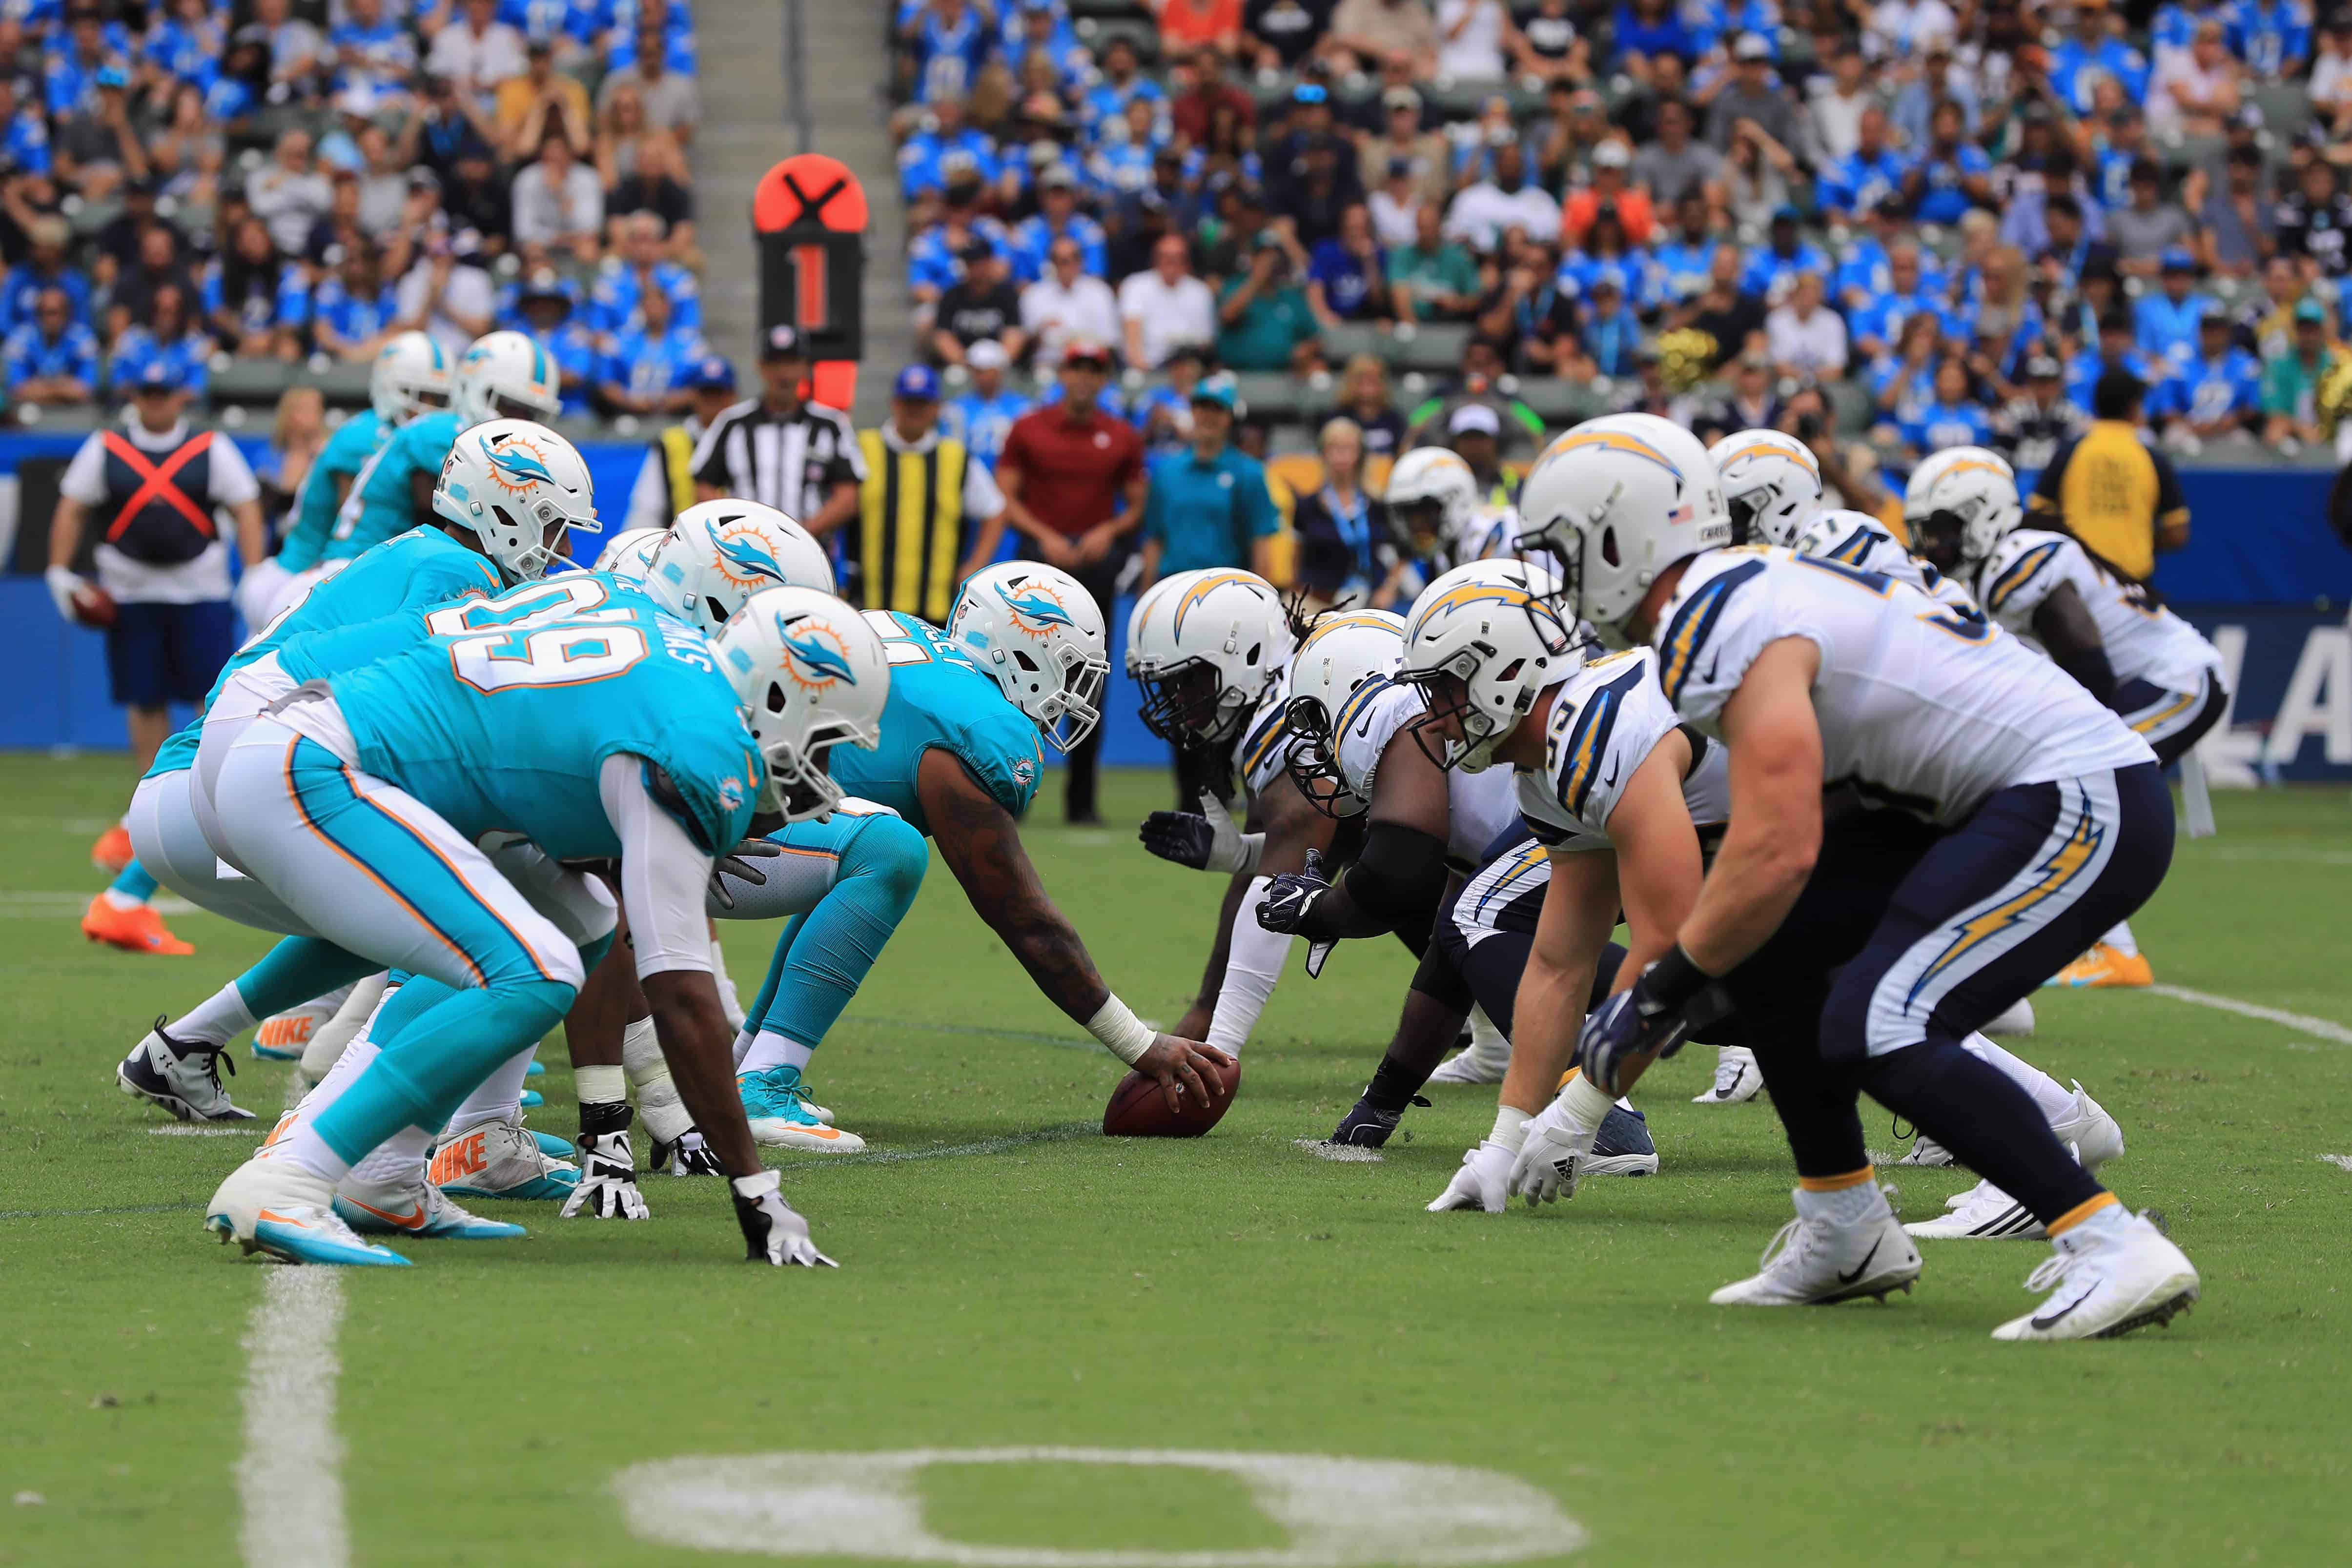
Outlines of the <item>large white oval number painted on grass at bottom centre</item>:
[{"label": "large white oval number painted on grass at bottom centre", "polygon": [[[934,1535],[915,1476],[931,1465],[1152,1465],[1249,1486],[1289,1547],[1068,1552]],[[1463,1465],[1192,1448],[903,1448],[649,1460],[614,1476],[644,1540],[767,1556],[863,1556],[960,1568],[1468,1568],[1559,1556],[1590,1537],[1550,1493]]]}]

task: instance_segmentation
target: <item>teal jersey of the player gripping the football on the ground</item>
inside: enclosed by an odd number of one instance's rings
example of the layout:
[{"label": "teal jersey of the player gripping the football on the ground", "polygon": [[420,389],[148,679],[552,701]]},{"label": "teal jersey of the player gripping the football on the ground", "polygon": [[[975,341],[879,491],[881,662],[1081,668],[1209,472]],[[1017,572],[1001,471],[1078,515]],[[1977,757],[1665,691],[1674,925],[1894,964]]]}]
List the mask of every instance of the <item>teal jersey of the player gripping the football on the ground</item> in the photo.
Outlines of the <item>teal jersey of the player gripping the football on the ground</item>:
[{"label": "teal jersey of the player gripping the football on the ground", "polygon": [[1044,771],[1030,717],[936,625],[880,609],[866,611],[866,623],[889,654],[889,703],[880,748],[835,745],[828,752],[842,790],[889,806],[929,835],[915,769],[927,750],[941,748],[971,769],[1000,806],[1014,816],[1028,811]]}]

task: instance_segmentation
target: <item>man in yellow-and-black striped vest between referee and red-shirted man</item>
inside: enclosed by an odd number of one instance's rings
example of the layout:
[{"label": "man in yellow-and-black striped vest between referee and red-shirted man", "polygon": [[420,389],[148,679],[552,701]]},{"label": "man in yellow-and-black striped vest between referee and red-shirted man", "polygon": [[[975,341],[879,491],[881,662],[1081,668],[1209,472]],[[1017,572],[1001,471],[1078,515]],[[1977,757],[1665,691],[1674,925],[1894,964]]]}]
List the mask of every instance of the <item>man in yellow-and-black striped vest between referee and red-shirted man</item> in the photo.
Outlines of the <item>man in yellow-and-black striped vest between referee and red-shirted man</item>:
[{"label": "man in yellow-and-black striped vest between referee and red-shirted man", "polygon": [[858,522],[842,529],[842,597],[946,623],[955,585],[995,559],[1004,491],[964,442],[938,433],[938,371],[908,364],[889,390],[889,423],[858,430],[866,482]]}]

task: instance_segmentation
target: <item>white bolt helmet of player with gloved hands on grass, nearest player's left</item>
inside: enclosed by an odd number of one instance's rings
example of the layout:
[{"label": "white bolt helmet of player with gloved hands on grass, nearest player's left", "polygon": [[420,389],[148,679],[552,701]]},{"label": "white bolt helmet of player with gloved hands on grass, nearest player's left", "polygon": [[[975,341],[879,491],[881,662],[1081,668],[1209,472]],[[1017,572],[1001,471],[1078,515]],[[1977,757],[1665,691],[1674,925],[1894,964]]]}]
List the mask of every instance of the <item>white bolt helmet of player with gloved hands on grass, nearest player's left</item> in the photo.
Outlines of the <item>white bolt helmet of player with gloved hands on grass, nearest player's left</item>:
[{"label": "white bolt helmet of player with gloved hands on grass, nearest player's left", "polygon": [[1423,691],[1414,741],[1430,762],[1477,773],[1543,689],[1583,665],[1557,599],[1559,578],[1531,562],[1470,562],[1421,590],[1397,679]]}]

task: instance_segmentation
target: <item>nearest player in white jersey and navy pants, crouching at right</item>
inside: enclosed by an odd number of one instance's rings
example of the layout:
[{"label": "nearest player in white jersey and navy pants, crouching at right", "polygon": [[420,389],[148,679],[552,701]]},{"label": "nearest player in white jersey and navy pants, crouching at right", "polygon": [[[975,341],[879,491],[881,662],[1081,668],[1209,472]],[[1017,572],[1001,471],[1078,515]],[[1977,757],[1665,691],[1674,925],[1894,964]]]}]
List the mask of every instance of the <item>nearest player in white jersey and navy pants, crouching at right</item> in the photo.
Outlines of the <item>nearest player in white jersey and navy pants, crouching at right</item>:
[{"label": "nearest player in white jersey and navy pants, crouching at right", "polygon": [[[1682,1041],[1710,987],[1740,1011],[1797,1161],[1797,1220],[1715,1302],[1917,1279],[1863,1147],[1865,1088],[2049,1229],[2056,1258],[2030,1286],[2051,1295],[1994,1338],[2114,1335],[2194,1302],[2190,1260],[1959,1044],[2164,879],[2173,818],[2147,745],[1905,583],[1726,550],[1712,463],[1668,421],[1555,454],[1522,505],[1526,541],[1564,564],[1564,604],[1613,646],[1653,644],[1668,701],[1729,748],[1731,825],[1691,917],[1578,1044],[1611,1091]],[[1496,722],[1444,677],[1439,698],[1468,745]],[[1571,1175],[1581,1157],[1550,1128],[1522,1150]]]}]

